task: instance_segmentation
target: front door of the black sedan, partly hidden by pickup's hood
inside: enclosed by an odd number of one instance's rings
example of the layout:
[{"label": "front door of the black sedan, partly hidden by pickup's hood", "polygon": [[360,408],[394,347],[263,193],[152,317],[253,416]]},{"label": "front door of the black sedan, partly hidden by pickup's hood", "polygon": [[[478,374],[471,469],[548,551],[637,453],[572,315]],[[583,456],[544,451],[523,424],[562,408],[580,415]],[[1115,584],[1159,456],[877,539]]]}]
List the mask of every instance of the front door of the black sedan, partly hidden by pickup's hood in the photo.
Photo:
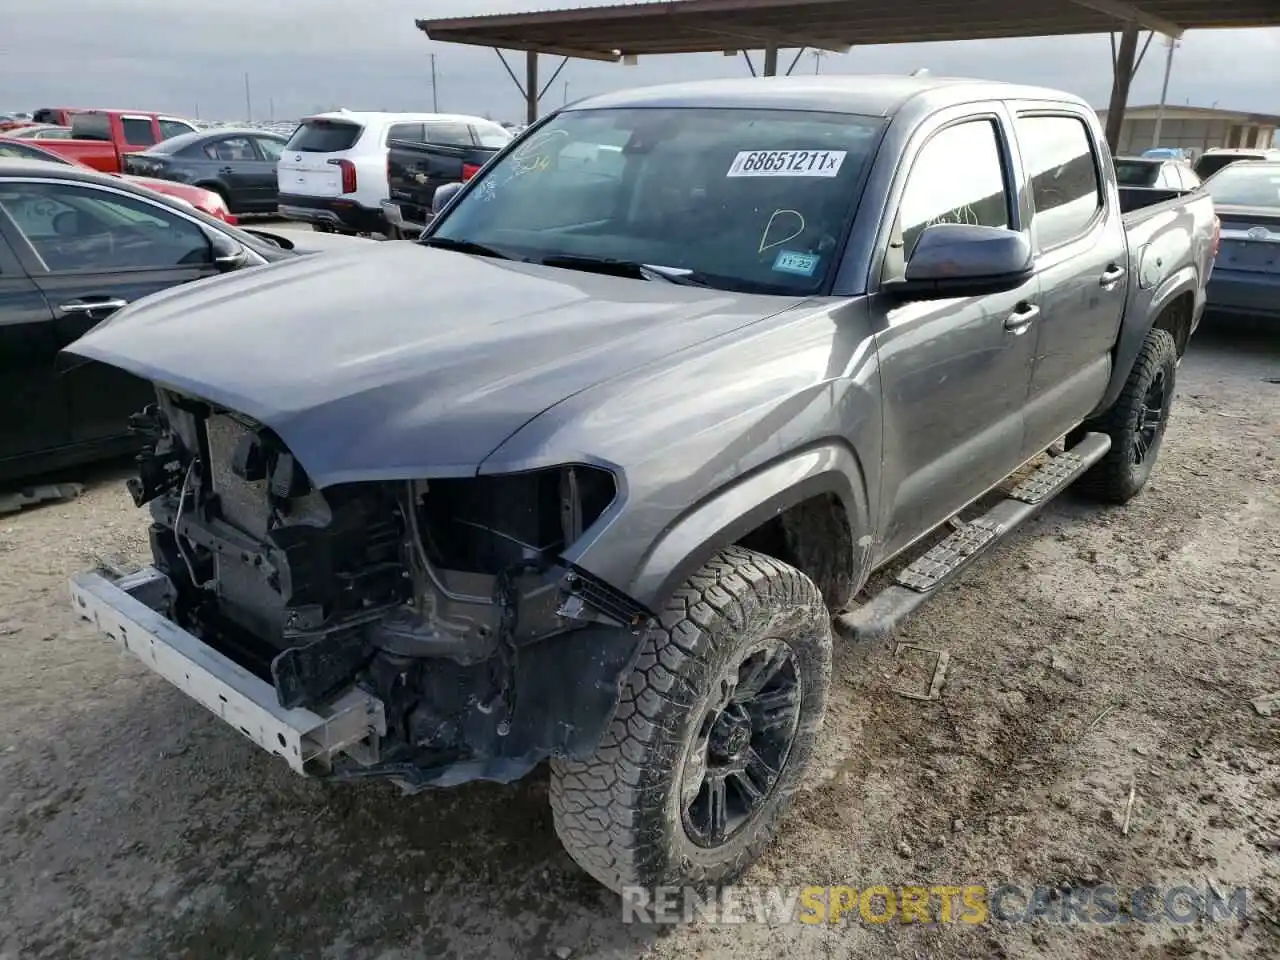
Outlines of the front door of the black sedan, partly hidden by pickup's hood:
[{"label": "front door of the black sedan, partly hidden by pickup's hood", "polygon": [[[59,349],[127,303],[218,273],[196,221],[105,186],[15,178],[0,184],[0,205]],[[104,364],[64,362],[61,379],[72,443],[127,435],[129,415],[154,399],[150,384]]]}]

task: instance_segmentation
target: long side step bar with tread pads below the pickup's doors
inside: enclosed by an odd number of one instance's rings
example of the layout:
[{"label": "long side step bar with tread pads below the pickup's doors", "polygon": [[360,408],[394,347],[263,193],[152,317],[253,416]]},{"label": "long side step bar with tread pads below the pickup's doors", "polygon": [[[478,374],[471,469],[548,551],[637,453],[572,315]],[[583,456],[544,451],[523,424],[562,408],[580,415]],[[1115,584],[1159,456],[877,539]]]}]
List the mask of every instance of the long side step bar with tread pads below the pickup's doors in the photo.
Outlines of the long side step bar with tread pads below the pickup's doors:
[{"label": "long side step bar with tread pads below the pickup's doors", "polygon": [[1046,503],[1102,460],[1108,449],[1110,436],[1085,434],[1075,447],[1051,458],[989,511],[960,525],[954,534],[913,561],[899,572],[892,586],[884,588],[858,609],[836,617],[836,630],[859,644],[886,643],[897,625],[941,586],[1036,516]]}]

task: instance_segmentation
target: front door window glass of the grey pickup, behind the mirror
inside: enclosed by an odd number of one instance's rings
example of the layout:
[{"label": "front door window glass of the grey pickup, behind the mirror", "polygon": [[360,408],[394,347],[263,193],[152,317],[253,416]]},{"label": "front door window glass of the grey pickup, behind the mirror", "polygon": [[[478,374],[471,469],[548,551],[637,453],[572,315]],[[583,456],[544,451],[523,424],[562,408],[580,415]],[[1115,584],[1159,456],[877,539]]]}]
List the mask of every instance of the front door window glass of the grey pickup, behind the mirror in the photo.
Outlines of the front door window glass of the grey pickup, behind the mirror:
[{"label": "front door window glass of the grey pickup, behind the mirror", "polygon": [[911,164],[899,207],[906,257],[936,223],[1009,227],[1004,169],[992,120],[959,123],[929,140]]}]

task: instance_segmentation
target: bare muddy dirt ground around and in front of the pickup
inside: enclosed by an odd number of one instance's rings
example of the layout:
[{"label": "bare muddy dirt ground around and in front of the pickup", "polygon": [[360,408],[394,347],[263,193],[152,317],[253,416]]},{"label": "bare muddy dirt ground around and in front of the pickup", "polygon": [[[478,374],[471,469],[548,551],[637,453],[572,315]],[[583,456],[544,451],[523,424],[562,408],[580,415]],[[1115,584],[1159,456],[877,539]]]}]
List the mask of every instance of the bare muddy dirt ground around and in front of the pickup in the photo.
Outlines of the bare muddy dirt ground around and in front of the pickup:
[{"label": "bare muddy dirt ground around and in front of the pickup", "polygon": [[826,763],[745,879],[1247,886],[1247,922],[623,925],[545,776],[305,781],[78,623],[67,576],[143,558],[114,470],[0,517],[0,959],[1280,956],[1268,378],[1275,332],[1202,329],[1149,488],[1059,500],[909,623],[950,653],[941,700],[837,654]]}]

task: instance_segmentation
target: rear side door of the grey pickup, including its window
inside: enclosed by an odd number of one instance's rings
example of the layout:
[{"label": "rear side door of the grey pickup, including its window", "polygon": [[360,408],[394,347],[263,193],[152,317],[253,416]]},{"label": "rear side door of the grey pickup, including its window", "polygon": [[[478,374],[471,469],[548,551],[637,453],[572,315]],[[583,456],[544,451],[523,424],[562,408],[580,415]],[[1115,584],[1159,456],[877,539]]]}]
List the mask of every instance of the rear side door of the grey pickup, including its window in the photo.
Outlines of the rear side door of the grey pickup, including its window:
[{"label": "rear side door of the grey pickup, including its window", "polygon": [[1032,457],[1093,410],[1111,376],[1128,291],[1120,207],[1102,175],[1107,154],[1070,108],[1015,105],[1041,316],[1027,396]]}]

